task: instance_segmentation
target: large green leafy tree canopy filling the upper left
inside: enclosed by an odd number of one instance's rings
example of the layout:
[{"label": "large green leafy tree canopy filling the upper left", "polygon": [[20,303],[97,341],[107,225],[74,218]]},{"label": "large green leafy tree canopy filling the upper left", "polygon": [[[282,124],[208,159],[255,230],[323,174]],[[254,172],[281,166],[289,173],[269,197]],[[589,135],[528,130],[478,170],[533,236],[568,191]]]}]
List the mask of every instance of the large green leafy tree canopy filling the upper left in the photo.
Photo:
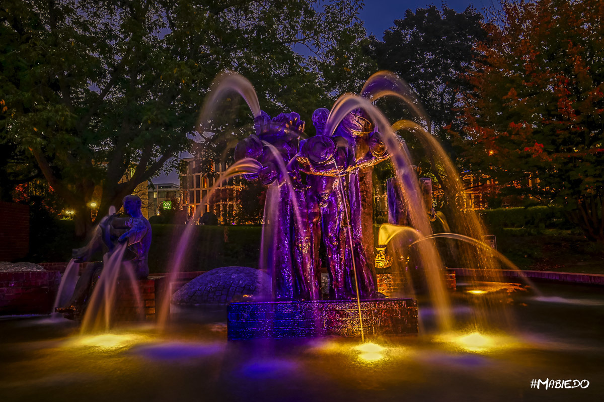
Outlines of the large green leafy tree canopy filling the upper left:
[{"label": "large green leafy tree canopy filling the upper left", "polygon": [[[218,72],[248,77],[265,104],[294,99],[310,108],[317,76],[292,46],[323,51],[358,7],[356,0],[329,1],[324,11],[311,0],[6,0],[0,141],[33,155],[76,211],[82,235],[91,201],[100,218],[189,148]],[[342,15],[325,11],[334,8]],[[100,200],[92,199],[95,187]]]}]

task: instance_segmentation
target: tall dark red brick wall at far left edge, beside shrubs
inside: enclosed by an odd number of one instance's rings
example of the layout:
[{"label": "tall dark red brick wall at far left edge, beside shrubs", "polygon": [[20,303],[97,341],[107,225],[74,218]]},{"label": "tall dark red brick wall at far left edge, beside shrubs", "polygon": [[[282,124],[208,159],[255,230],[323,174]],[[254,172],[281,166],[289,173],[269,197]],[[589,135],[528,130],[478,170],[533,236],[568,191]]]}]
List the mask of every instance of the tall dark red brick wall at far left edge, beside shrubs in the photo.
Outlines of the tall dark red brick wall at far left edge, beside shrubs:
[{"label": "tall dark red brick wall at far left edge, beside shrubs", "polygon": [[0,201],[0,261],[27,256],[30,247],[30,207]]}]

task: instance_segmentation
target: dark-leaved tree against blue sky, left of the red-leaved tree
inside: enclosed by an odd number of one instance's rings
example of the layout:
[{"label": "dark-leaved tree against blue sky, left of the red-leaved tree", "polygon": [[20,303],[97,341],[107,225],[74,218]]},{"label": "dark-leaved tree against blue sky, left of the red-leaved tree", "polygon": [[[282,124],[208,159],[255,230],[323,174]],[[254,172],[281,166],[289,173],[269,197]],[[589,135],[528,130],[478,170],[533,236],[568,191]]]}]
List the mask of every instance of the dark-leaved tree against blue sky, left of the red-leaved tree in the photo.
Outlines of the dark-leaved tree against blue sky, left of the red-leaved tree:
[{"label": "dark-leaved tree against blue sky, left of the red-leaved tree", "polygon": [[406,10],[384,32],[384,40],[373,37],[368,49],[379,69],[413,88],[428,114],[428,131],[445,145],[445,127],[455,122],[460,96],[468,90],[463,75],[476,55],[475,44],[486,35],[482,19],[472,7],[463,13],[434,5]]}]

